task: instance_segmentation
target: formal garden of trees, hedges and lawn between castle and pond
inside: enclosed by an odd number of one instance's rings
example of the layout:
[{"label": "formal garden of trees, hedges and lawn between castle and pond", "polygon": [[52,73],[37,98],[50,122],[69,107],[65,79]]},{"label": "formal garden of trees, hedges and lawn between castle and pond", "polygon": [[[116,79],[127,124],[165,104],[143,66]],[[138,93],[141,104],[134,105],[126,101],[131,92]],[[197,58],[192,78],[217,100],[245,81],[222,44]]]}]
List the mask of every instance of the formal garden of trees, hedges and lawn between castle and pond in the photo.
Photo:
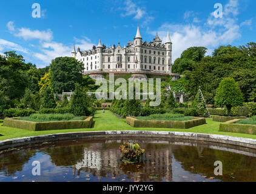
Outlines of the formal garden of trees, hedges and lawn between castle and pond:
[{"label": "formal garden of trees, hedges and lawn between castle and pond", "polygon": [[[157,107],[151,107],[149,99],[98,100],[89,95],[99,86],[83,76],[83,64],[73,58],[56,58],[49,67],[37,69],[21,55],[6,52],[0,61],[0,139],[90,130],[168,130],[254,138],[250,127],[255,125],[256,78],[254,54],[248,55],[254,47],[254,43],[221,46],[211,57],[205,56],[204,47],[185,50],[173,65],[173,72],[183,76],[178,81],[163,78]],[[128,83],[130,75],[124,78]],[[58,94],[70,91],[71,99],[66,95],[59,99]],[[185,102],[177,102],[173,92],[185,93]],[[248,130],[237,129],[244,125]]]}]

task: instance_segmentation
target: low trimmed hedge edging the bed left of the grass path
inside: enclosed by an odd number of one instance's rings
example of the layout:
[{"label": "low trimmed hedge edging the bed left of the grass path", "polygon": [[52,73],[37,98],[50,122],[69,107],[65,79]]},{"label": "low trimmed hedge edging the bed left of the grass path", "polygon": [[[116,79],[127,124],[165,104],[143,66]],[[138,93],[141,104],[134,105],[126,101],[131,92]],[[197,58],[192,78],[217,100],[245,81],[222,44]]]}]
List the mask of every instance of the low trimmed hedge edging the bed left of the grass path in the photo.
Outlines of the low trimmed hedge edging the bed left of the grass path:
[{"label": "low trimmed hedge edging the bed left of the grass path", "polygon": [[93,125],[93,117],[83,117],[84,121],[52,121],[30,122],[20,121],[17,118],[4,119],[4,126],[31,131],[60,130],[60,129],[87,129]]}]

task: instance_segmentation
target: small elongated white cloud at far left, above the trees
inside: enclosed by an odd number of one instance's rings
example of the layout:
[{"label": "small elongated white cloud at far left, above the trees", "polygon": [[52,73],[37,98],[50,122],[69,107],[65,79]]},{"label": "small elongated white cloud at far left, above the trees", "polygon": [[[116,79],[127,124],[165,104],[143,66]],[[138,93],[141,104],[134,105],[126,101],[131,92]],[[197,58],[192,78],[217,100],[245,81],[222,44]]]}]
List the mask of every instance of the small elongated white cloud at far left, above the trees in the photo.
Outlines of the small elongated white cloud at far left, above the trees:
[{"label": "small elongated white cloud at far left, above the trees", "polygon": [[47,31],[30,30],[30,28],[20,28],[19,33],[15,36],[23,38],[25,41],[30,39],[39,39],[40,41],[52,41],[53,33],[49,29]]}]

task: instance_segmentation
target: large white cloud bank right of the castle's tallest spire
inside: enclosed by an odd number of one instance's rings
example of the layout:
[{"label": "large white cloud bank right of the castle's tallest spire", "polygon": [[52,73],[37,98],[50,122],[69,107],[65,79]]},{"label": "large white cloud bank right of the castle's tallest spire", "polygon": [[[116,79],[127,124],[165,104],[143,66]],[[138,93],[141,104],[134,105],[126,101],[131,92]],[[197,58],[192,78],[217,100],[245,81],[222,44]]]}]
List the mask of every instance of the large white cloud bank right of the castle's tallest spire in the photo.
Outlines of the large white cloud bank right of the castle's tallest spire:
[{"label": "large white cloud bank right of the castle's tallest spire", "polygon": [[[191,16],[192,13],[185,13],[184,19]],[[165,41],[167,29],[170,30],[170,38],[173,43],[173,62],[189,47],[206,47],[209,55],[219,45],[231,44],[235,39],[241,37],[240,25],[238,25],[237,19],[238,14],[238,1],[229,0],[224,5],[223,18],[214,18],[213,13],[211,13],[204,25],[198,25],[195,19],[194,22],[184,25],[167,22],[161,25],[158,34]],[[247,21],[244,24],[249,24],[249,22]],[[150,33],[155,35],[156,32]]]}]

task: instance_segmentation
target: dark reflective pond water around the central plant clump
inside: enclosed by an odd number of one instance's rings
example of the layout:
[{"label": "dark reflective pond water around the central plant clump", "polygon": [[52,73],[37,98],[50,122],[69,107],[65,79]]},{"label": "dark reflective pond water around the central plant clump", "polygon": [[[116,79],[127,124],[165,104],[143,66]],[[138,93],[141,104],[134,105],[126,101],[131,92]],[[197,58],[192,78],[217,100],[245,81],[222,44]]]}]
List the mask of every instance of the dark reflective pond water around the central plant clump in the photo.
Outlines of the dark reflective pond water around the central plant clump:
[{"label": "dark reflective pond water around the central plant clump", "polygon": [[[124,141],[146,150],[140,164],[121,164]],[[40,162],[40,176],[32,174],[33,161]],[[215,161],[223,163],[223,176],[214,175]],[[152,138],[44,142],[0,153],[3,181],[256,181],[256,150]]]}]

